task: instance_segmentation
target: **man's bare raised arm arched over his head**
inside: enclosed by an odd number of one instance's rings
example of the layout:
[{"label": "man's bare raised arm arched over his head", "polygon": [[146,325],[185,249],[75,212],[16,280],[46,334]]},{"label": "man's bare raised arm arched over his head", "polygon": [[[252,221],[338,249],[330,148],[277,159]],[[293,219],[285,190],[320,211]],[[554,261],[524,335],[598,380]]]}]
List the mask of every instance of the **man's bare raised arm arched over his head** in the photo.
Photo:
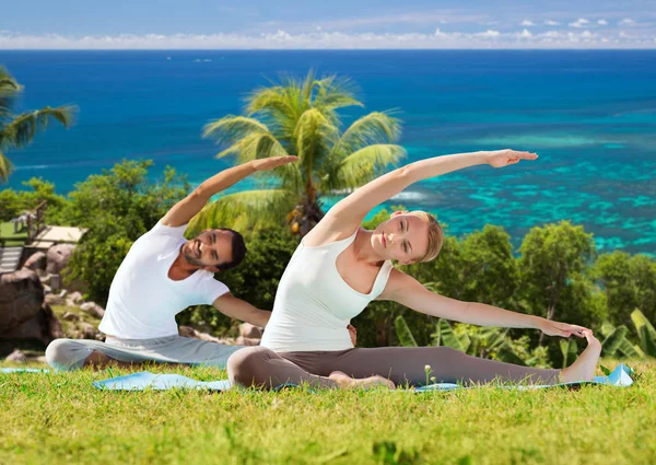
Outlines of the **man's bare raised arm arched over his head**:
[{"label": "man's bare raised arm arched over his head", "polygon": [[298,160],[296,156],[273,156],[253,160],[248,163],[224,170],[203,181],[191,194],[174,205],[164,218],[162,218],[162,224],[172,228],[187,224],[191,218],[196,217],[202,210],[213,195],[227,189],[256,171],[273,170],[296,160]]}]

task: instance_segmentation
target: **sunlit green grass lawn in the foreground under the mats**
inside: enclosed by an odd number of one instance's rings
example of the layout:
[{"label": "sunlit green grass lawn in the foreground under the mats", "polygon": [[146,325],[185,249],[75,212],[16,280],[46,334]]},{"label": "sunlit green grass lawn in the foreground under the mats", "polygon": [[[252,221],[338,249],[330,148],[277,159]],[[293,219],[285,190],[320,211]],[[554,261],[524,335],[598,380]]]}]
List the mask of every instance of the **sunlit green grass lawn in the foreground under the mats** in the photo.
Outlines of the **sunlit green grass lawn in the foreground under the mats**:
[{"label": "sunlit green grass lawn in the foreground under the mats", "polygon": [[639,376],[628,388],[427,394],[124,393],[91,385],[127,373],[116,369],[0,374],[0,463],[656,463],[656,363],[631,364]]}]

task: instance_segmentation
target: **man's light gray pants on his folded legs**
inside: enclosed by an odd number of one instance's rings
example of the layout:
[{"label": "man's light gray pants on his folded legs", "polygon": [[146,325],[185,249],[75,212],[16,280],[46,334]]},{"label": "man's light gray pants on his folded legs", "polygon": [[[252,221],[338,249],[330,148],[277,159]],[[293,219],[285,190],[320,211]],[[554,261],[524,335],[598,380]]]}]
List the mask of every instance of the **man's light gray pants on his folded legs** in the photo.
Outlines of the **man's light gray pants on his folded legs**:
[{"label": "man's light gray pants on his folded legs", "polygon": [[178,335],[155,339],[56,339],[46,349],[48,364],[57,370],[79,370],[93,351],[121,362],[154,361],[225,368],[229,357],[244,346],[223,346]]}]

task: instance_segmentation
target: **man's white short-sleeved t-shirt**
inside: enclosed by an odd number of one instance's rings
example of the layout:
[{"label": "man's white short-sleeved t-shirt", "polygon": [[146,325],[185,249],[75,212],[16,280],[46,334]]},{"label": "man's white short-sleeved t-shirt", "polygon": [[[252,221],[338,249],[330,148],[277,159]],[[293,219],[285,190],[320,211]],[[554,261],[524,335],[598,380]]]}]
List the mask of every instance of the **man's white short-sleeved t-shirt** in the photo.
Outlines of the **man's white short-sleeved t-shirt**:
[{"label": "man's white short-sleeved t-shirt", "polygon": [[211,305],[230,290],[199,269],[180,281],[168,269],[186,242],[187,225],[155,226],[132,244],[109,288],[99,329],[121,339],[152,339],[178,334],[175,315],[189,305]]}]

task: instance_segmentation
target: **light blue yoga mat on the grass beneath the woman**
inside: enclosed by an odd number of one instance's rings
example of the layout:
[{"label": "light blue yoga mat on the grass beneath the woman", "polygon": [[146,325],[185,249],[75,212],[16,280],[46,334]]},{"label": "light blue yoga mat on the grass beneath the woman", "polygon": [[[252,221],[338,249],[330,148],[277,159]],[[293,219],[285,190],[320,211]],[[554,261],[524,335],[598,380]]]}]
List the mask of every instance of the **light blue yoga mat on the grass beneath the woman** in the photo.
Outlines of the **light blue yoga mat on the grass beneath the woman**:
[{"label": "light blue yoga mat on the grass beneath the woman", "polygon": [[[618,365],[608,376],[595,376],[593,381],[584,381],[577,383],[561,383],[551,385],[520,385],[520,386],[508,386],[509,388],[518,390],[536,390],[543,387],[554,386],[572,386],[583,384],[602,384],[608,386],[625,387],[633,384],[633,380],[630,374],[633,372],[629,367],[624,364]],[[128,374],[125,376],[113,377],[110,380],[95,381],[93,385],[99,390],[113,390],[113,391],[143,391],[147,388],[151,390],[171,390],[174,387],[190,388],[190,390],[210,390],[210,391],[225,391],[231,387],[229,380],[220,381],[197,381],[190,377],[186,377],[179,374],[154,374],[148,371],[140,373]],[[277,390],[282,387],[294,387],[294,384],[283,384],[278,386]],[[478,386],[473,386],[478,387]],[[427,392],[427,391],[453,391],[459,388],[471,388],[464,387],[453,383],[437,383],[429,386],[415,387],[414,392]]]}]

